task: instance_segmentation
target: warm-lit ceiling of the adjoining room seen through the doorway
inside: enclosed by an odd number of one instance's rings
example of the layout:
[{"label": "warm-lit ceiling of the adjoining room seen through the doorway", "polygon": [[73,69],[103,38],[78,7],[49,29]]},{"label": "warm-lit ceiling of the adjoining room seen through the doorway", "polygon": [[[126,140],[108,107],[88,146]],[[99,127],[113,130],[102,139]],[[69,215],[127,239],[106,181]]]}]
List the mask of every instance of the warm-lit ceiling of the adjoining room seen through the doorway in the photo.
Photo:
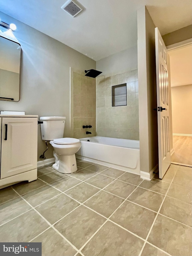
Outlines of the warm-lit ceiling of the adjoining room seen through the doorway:
[{"label": "warm-lit ceiling of the adjoining room seen through the doorway", "polygon": [[192,84],[192,45],[169,52],[171,87]]}]

